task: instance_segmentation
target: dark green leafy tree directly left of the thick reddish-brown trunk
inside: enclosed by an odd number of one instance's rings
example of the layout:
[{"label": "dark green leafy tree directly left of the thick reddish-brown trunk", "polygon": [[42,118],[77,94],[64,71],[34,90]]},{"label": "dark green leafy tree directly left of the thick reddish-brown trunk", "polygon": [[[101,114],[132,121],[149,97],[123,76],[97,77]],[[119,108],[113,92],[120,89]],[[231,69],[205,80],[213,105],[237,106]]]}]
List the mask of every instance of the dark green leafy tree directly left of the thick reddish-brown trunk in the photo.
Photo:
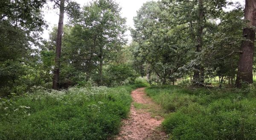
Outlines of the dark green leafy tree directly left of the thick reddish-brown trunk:
[{"label": "dark green leafy tree directly left of the thick reddish-brown trunk", "polygon": [[219,86],[225,80],[231,87],[235,84],[242,39],[241,27],[244,26],[242,9],[238,5],[221,14],[220,22],[213,24],[205,34],[205,47],[201,57],[204,60],[206,83],[218,76]]}]

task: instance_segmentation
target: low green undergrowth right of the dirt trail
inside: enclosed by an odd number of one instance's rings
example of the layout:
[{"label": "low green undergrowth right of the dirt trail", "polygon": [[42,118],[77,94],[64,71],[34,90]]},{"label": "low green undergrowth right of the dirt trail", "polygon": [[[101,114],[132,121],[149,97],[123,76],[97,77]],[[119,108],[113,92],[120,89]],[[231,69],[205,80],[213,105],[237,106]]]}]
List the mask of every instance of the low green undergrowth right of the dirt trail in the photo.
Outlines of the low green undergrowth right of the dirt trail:
[{"label": "low green undergrowth right of the dirt trail", "polygon": [[169,115],[163,128],[173,140],[255,140],[256,92],[237,89],[149,87]]}]

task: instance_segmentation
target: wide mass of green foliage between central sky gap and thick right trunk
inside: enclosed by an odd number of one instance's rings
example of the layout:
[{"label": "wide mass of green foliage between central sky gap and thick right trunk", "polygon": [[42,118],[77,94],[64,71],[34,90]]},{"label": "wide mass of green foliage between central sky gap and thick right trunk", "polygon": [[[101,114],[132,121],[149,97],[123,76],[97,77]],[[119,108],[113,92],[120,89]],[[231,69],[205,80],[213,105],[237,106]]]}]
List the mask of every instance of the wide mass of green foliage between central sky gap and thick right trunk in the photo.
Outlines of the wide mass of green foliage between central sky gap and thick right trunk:
[{"label": "wide mass of green foliage between central sky gap and thick right trunk", "polygon": [[[151,83],[171,84],[204,67],[201,80],[193,78],[195,83],[211,84],[218,76],[218,86],[225,78],[233,85],[244,26],[242,7],[225,0],[200,2],[150,1],[137,11],[131,29],[134,65]],[[225,6],[233,9],[224,11]]]}]

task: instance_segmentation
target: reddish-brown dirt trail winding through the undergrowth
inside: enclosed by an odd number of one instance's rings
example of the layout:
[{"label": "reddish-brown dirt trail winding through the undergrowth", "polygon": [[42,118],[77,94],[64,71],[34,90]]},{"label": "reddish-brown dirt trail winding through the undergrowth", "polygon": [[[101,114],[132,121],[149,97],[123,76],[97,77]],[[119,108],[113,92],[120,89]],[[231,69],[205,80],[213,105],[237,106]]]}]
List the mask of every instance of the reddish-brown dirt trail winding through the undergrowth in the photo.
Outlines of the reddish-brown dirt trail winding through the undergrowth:
[{"label": "reddish-brown dirt trail winding through the undergrowth", "polygon": [[[152,106],[154,102],[145,95],[144,89],[134,90],[131,96],[136,103]],[[163,118],[152,118],[146,109],[136,109],[134,102],[131,105],[129,118],[123,121],[124,124],[117,140],[166,140],[166,134],[157,129]]]}]

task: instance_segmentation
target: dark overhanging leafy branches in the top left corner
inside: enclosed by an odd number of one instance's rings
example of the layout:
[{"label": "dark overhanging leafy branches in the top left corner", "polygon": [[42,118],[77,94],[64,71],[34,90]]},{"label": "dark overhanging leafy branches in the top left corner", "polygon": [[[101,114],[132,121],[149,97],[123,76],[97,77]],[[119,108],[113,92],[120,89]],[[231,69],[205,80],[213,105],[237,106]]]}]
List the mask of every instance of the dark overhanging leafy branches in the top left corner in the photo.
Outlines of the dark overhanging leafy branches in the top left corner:
[{"label": "dark overhanging leafy branches in the top left corner", "polygon": [[45,0],[1,0],[0,21],[9,21],[19,27],[42,31],[45,25],[41,16]]}]

